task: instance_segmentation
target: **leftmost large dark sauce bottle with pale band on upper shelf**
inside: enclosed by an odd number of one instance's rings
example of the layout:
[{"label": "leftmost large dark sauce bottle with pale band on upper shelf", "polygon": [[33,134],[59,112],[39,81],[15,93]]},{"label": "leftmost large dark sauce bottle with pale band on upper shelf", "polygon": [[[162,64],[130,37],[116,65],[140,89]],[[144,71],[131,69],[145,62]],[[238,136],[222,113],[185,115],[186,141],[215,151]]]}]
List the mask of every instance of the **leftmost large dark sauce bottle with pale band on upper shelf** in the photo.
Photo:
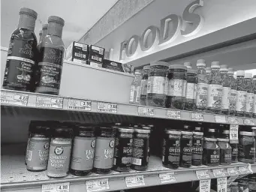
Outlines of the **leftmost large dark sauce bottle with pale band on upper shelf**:
[{"label": "leftmost large dark sauce bottle with pale band on upper shelf", "polygon": [[37,37],[34,30],[38,13],[25,7],[21,8],[19,13],[17,29],[11,34],[3,88],[33,92],[38,55]]}]

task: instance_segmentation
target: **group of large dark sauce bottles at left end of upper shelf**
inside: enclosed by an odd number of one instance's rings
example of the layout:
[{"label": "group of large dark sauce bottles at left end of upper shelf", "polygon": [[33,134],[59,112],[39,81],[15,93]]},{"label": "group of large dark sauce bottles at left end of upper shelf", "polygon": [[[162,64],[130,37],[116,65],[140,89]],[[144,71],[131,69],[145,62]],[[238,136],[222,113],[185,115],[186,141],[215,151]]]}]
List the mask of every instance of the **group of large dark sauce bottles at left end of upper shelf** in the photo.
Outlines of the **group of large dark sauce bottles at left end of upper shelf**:
[{"label": "group of large dark sauce bottles at left end of upper shelf", "polygon": [[59,95],[65,46],[62,28],[65,21],[50,16],[43,25],[39,43],[35,36],[38,13],[20,9],[17,29],[11,34],[5,67],[5,89]]}]

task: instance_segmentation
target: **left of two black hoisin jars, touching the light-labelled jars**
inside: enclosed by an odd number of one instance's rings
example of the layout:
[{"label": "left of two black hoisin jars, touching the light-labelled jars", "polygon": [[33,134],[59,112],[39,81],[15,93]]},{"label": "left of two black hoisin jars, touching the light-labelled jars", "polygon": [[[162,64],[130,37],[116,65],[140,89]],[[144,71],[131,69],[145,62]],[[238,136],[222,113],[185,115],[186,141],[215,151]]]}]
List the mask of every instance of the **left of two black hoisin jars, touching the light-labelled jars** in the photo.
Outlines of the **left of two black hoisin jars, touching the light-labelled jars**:
[{"label": "left of two black hoisin jars, touching the light-labelled jars", "polygon": [[128,172],[131,167],[133,129],[119,127],[116,133],[114,169]]}]

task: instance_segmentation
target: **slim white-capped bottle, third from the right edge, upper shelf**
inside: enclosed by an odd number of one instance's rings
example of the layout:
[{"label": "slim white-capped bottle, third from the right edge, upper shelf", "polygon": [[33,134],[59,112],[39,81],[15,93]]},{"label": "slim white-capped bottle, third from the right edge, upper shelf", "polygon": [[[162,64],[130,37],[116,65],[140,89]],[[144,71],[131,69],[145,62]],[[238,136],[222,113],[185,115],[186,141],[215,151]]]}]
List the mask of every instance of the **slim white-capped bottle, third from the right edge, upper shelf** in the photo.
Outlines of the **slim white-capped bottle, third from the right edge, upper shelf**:
[{"label": "slim white-capped bottle, third from the right edge, upper shelf", "polygon": [[245,91],[245,71],[236,72],[236,116],[244,116],[246,109],[247,92]]}]

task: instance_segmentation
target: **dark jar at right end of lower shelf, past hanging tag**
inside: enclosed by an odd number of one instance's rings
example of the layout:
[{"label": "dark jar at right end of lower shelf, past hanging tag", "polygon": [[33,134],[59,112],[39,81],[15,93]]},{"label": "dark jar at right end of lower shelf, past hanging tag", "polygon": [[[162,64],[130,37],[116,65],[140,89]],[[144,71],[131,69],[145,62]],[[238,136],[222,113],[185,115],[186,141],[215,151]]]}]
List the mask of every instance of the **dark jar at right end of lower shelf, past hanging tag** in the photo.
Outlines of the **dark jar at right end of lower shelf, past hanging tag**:
[{"label": "dark jar at right end of lower shelf, past hanging tag", "polygon": [[255,161],[254,133],[247,131],[239,132],[238,160],[244,163]]}]

